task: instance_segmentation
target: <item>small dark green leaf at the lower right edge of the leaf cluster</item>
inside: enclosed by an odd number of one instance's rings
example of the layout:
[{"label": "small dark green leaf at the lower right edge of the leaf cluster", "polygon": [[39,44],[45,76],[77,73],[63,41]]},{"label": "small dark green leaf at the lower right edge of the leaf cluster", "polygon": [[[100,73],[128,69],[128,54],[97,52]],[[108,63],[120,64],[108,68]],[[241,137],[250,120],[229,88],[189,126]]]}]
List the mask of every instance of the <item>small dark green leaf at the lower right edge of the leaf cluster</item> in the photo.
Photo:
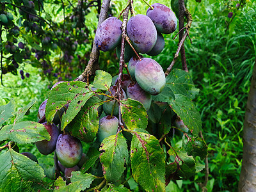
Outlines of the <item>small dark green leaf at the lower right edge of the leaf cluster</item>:
[{"label": "small dark green leaf at the lower right edge of the leaf cluster", "polygon": [[199,156],[203,160],[207,156],[207,145],[202,138],[191,138],[183,147],[189,156]]}]

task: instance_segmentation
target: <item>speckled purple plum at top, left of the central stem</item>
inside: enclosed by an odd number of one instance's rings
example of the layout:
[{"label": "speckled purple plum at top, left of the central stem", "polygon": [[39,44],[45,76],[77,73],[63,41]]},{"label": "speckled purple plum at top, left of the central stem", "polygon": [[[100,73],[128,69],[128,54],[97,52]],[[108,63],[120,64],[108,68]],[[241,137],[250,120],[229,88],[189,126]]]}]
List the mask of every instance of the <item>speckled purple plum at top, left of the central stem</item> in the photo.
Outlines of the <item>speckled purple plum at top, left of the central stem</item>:
[{"label": "speckled purple plum at top, left of the central stem", "polygon": [[111,51],[120,44],[122,36],[122,21],[109,17],[100,24],[95,33],[95,44],[101,51]]}]

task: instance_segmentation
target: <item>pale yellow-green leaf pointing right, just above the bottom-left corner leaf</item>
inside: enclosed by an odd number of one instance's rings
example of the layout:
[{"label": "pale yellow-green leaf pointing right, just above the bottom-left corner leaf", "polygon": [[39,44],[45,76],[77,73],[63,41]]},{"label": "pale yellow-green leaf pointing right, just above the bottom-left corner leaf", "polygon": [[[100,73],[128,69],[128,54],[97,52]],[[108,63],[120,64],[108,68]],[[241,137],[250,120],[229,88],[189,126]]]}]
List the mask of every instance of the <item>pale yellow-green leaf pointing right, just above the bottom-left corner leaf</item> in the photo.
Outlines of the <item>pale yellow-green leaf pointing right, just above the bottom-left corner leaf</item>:
[{"label": "pale yellow-green leaf pointing right, just above the bottom-left corner leaf", "polygon": [[12,140],[16,143],[34,143],[50,140],[51,136],[45,126],[36,122],[19,122],[15,125],[5,125],[0,130],[0,141]]}]

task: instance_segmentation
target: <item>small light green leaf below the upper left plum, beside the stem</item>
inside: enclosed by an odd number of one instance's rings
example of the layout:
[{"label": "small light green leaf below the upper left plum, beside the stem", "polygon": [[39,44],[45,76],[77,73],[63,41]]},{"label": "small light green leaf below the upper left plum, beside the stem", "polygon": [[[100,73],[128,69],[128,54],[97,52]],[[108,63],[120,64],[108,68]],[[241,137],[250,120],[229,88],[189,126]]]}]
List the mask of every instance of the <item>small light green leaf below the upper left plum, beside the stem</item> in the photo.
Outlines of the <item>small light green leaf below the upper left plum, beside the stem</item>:
[{"label": "small light green leaf below the upper left plum, beside the stem", "polygon": [[100,90],[108,91],[109,87],[111,86],[112,77],[107,72],[103,70],[96,70],[95,77],[93,81],[93,86]]}]

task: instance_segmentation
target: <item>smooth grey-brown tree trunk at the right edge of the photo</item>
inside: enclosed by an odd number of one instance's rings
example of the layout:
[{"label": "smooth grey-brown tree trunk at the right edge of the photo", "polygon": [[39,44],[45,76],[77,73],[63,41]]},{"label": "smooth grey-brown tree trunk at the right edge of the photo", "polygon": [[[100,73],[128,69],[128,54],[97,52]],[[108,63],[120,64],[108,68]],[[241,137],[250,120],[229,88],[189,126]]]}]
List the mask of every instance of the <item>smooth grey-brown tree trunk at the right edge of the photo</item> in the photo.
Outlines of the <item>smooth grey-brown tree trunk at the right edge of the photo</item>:
[{"label": "smooth grey-brown tree trunk at the right edge of the photo", "polygon": [[256,60],[244,116],[243,163],[238,191],[256,191]]}]

